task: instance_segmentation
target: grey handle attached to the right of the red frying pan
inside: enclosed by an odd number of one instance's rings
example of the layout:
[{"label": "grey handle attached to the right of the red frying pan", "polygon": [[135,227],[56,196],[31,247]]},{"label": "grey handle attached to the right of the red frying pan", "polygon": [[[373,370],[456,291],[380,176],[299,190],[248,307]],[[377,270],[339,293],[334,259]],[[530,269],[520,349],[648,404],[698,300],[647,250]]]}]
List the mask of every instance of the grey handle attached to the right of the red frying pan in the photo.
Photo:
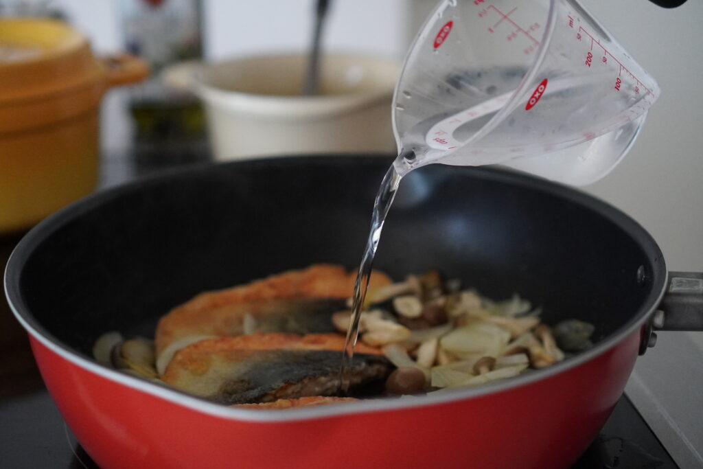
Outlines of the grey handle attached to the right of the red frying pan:
[{"label": "grey handle attached to the right of the red frying pan", "polygon": [[703,330],[703,272],[669,272],[669,285],[655,313],[655,330]]}]

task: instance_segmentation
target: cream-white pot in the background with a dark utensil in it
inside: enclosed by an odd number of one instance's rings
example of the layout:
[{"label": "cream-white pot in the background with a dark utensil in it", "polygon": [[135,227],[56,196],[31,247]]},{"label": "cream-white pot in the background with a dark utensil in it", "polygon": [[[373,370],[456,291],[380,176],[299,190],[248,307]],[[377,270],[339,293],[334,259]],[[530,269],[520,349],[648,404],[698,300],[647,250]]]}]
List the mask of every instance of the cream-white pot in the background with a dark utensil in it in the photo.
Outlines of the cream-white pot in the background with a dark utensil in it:
[{"label": "cream-white pot in the background with a dark utensil in it", "polygon": [[205,102],[217,160],[295,153],[394,153],[391,105],[400,63],[321,58],[320,92],[302,96],[307,56],[269,55],[205,65]]}]

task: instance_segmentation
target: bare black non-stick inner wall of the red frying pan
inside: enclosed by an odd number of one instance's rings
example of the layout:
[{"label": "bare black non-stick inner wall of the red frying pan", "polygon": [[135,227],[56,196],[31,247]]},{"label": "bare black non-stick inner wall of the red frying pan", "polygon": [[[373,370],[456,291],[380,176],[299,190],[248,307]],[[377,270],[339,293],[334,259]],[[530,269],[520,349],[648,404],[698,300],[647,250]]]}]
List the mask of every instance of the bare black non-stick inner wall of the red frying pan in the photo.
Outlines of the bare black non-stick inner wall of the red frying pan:
[{"label": "bare black non-stick inner wall of the red frying pan", "polygon": [[[290,157],[207,165],[83,200],[37,226],[8,266],[32,326],[89,355],[109,330],[150,336],[204,290],[316,262],[356,269],[391,160]],[[553,323],[610,335],[651,309],[659,248],[617,210],[493,169],[430,165],[402,182],[375,267],[401,280],[440,269],[496,299],[514,293]]]}]

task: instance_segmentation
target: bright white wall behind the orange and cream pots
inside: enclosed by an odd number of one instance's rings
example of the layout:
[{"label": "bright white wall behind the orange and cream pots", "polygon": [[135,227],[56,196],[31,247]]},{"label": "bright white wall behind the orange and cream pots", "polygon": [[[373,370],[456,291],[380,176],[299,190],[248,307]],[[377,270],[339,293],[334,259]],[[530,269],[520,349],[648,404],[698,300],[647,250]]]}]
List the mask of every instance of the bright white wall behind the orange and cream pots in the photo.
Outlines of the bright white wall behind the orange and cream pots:
[{"label": "bright white wall behind the orange and cream pots", "polygon": [[[22,0],[14,0],[22,1]],[[93,40],[98,52],[120,48],[120,0],[52,0]],[[302,50],[311,36],[312,0],[203,0],[208,58]],[[337,51],[402,56],[407,0],[330,2],[325,44]]]}]

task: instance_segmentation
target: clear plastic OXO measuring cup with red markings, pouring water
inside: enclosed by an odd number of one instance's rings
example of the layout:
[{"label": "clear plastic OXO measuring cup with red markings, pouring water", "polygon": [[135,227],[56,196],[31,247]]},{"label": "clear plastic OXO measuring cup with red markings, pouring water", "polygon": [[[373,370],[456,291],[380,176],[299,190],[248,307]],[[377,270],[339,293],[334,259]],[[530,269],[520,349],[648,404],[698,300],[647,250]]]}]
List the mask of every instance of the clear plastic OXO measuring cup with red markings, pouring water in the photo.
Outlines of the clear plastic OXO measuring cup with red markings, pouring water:
[{"label": "clear plastic OXO measuring cup with red markings, pouring water", "polygon": [[396,171],[501,163],[590,184],[625,155],[658,96],[575,0],[444,0],[396,87]]}]

